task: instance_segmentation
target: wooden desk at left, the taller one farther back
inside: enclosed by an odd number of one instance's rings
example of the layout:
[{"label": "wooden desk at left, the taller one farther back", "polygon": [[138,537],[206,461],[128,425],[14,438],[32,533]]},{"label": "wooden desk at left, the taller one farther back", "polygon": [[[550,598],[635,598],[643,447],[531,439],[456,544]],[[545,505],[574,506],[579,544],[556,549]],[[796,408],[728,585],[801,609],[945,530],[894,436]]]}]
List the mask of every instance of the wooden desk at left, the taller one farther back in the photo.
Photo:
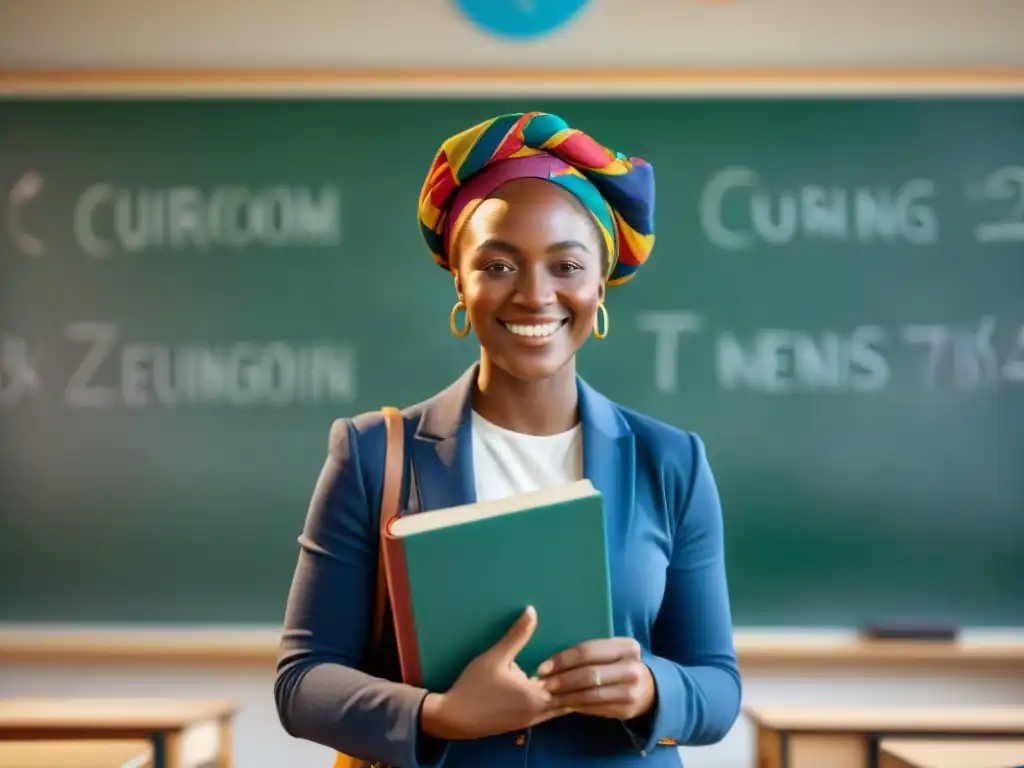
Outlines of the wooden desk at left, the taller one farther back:
[{"label": "wooden desk at left, the taller one farther back", "polygon": [[0,698],[0,741],[144,739],[154,768],[232,768],[237,710],[188,698]]}]

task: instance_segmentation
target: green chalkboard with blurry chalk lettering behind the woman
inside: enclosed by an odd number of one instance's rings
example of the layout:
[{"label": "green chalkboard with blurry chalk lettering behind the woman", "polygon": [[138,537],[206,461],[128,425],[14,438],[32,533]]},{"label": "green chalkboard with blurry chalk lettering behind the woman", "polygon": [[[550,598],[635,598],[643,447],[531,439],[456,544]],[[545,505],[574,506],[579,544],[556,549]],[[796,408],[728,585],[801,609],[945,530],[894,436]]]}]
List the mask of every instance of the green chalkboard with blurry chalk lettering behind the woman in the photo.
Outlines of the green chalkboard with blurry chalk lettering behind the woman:
[{"label": "green chalkboard with blurry chalk lettering behind the woman", "polygon": [[280,622],[332,419],[476,354],[433,152],[524,108],[655,167],[580,370],[707,441],[736,624],[1024,624],[1018,98],[0,101],[0,620]]}]

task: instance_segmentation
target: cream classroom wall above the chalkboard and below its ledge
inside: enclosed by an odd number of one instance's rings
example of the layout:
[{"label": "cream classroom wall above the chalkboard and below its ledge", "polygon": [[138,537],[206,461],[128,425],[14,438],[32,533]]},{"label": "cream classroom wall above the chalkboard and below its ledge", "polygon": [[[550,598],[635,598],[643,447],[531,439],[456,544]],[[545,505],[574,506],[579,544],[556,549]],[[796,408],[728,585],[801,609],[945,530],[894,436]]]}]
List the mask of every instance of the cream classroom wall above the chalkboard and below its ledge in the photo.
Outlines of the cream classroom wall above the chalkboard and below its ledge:
[{"label": "cream classroom wall above the chalkboard and below its ledge", "polygon": [[[759,68],[1024,66],[1018,0],[600,0],[567,29],[496,41],[451,0],[0,2],[0,68]],[[324,766],[273,710],[269,668],[4,662],[5,695],[234,697],[240,768]],[[775,667],[745,671],[748,705],[1021,702],[1021,665],[985,670]],[[688,768],[749,768],[752,733],[687,750]]]}]

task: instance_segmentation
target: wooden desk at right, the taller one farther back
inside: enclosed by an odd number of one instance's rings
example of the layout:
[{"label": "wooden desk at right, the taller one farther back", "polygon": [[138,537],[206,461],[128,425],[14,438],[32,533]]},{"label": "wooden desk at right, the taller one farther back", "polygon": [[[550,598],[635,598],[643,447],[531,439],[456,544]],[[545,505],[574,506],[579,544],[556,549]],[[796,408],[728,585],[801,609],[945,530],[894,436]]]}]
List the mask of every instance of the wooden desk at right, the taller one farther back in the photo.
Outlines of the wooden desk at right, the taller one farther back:
[{"label": "wooden desk at right, the taller one farther back", "polygon": [[1024,737],[1024,707],[745,708],[758,768],[881,768],[887,737]]}]

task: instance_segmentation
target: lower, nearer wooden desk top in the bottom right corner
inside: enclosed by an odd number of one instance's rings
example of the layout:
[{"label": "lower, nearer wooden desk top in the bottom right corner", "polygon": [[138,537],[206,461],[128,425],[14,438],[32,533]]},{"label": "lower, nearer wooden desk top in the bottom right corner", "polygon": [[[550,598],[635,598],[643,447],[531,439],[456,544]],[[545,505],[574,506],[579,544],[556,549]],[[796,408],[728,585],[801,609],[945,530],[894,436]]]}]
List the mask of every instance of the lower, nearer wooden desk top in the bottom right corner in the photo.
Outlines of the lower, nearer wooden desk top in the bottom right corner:
[{"label": "lower, nearer wooden desk top in the bottom right corner", "polygon": [[1018,768],[1024,739],[884,739],[879,768]]}]

